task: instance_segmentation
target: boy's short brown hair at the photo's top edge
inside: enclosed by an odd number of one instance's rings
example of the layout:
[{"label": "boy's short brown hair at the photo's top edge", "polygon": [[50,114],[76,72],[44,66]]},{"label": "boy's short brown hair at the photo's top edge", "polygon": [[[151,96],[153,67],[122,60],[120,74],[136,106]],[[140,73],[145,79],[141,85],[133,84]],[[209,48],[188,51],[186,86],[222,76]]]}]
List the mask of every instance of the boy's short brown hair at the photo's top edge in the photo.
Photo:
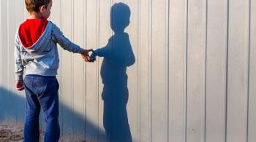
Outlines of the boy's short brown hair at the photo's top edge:
[{"label": "boy's short brown hair at the photo's top edge", "polygon": [[39,7],[45,5],[48,6],[51,0],[25,0],[26,9],[29,13],[31,12],[39,12]]}]

